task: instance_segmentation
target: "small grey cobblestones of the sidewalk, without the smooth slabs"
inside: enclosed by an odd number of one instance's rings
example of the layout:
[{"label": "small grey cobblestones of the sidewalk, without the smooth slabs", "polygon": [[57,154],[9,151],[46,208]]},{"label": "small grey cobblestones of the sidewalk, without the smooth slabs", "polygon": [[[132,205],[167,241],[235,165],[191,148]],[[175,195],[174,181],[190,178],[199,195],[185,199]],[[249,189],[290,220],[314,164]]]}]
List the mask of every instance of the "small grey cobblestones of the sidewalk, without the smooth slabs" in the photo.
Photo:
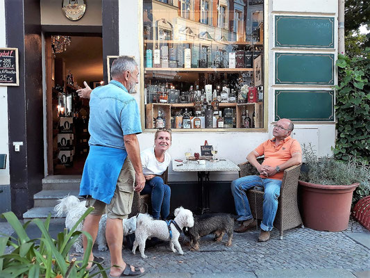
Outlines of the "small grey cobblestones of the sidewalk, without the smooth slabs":
[{"label": "small grey cobblestones of the sidewalk, without the smooth slabs", "polygon": [[[315,231],[309,228],[296,228],[285,231],[283,240],[278,239],[274,229],[267,243],[258,243],[259,231],[246,231],[234,234],[233,246],[216,243],[212,236],[201,238],[201,250],[191,252],[184,246],[185,254],[180,256],[169,250],[163,243],[145,250],[148,259],[142,259],[139,250],[136,255],[124,248],[125,261],[140,265],[150,273],[187,272],[230,273],[255,272],[256,270],[283,269],[333,269],[341,268],[350,272],[369,270],[370,250],[346,236],[345,232],[367,231],[351,220],[343,232]],[[96,252],[107,256],[107,252]],[[109,261],[106,262],[106,266]]]}]

